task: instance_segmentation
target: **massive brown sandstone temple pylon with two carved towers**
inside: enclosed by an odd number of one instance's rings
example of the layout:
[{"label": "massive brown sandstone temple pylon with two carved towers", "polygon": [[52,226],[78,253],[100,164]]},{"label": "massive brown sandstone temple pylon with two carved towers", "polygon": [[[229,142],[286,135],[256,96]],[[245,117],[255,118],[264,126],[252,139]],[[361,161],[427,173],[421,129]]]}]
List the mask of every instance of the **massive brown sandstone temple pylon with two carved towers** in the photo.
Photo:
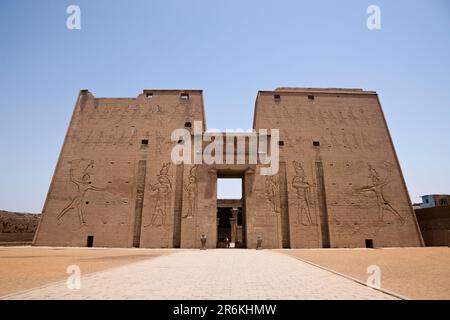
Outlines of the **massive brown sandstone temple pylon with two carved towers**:
[{"label": "massive brown sandstone temple pylon with two carved towers", "polygon": [[258,237],[263,248],[422,245],[375,92],[258,92],[253,127],[279,129],[282,140],[274,176],[248,162],[172,163],[172,131],[194,121],[205,130],[200,90],[137,98],[82,90],[35,245],[86,246],[93,236],[94,246],[200,248],[205,234],[215,248],[216,182],[225,176],[243,179],[247,248]]}]

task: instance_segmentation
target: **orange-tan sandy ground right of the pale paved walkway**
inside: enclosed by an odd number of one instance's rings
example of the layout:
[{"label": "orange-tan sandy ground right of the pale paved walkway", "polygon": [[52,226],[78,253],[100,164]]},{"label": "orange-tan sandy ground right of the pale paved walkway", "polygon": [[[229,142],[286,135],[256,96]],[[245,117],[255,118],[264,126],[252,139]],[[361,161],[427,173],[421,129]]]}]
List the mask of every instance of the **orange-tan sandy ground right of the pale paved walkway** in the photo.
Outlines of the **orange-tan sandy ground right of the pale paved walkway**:
[{"label": "orange-tan sandy ground right of the pale paved walkway", "polygon": [[277,250],[367,281],[367,267],[381,270],[381,288],[412,299],[450,299],[450,248]]}]

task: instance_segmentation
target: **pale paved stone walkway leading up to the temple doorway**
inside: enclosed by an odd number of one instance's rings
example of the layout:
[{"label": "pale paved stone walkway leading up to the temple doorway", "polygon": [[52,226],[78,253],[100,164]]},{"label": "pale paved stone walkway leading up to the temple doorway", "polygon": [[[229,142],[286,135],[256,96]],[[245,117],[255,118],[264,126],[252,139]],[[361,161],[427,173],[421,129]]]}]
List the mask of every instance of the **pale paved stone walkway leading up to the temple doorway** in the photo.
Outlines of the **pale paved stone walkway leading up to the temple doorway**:
[{"label": "pale paved stone walkway leading up to the temple doorway", "polygon": [[[82,270],[81,270],[82,271]],[[180,250],[7,299],[393,299],[270,250]]]}]

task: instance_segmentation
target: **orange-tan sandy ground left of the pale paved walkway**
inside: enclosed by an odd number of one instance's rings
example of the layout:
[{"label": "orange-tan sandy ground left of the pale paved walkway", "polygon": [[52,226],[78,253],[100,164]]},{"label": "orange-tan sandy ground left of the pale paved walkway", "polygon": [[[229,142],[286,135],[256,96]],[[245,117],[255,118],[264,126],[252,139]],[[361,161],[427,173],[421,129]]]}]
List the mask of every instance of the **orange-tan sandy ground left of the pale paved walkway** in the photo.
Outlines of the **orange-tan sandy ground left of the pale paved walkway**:
[{"label": "orange-tan sandy ground left of the pale paved walkway", "polygon": [[[179,249],[178,249],[179,251]],[[0,296],[174,252],[171,249],[0,247]]]}]

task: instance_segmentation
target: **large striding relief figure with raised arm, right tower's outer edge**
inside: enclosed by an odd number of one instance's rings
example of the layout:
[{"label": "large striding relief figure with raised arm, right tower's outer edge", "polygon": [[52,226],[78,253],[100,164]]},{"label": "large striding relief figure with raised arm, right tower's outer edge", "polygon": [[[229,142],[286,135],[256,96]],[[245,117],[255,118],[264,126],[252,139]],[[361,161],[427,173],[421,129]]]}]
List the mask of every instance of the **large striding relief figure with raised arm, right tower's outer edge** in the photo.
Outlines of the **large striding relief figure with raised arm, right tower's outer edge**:
[{"label": "large striding relief figure with raised arm, right tower's outer edge", "polygon": [[370,186],[365,186],[357,189],[357,192],[362,194],[373,192],[375,194],[378,204],[379,219],[381,221],[385,221],[384,212],[387,211],[399,218],[400,221],[404,223],[406,219],[400,213],[398,213],[398,211],[389,203],[384,193],[384,187],[389,183],[389,176],[392,171],[392,165],[386,164],[387,174],[384,179],[380,177],[378,171],[370,163],[368,163],[367,165],[370,172],[369,178],[371,179],[372,183]]}]

